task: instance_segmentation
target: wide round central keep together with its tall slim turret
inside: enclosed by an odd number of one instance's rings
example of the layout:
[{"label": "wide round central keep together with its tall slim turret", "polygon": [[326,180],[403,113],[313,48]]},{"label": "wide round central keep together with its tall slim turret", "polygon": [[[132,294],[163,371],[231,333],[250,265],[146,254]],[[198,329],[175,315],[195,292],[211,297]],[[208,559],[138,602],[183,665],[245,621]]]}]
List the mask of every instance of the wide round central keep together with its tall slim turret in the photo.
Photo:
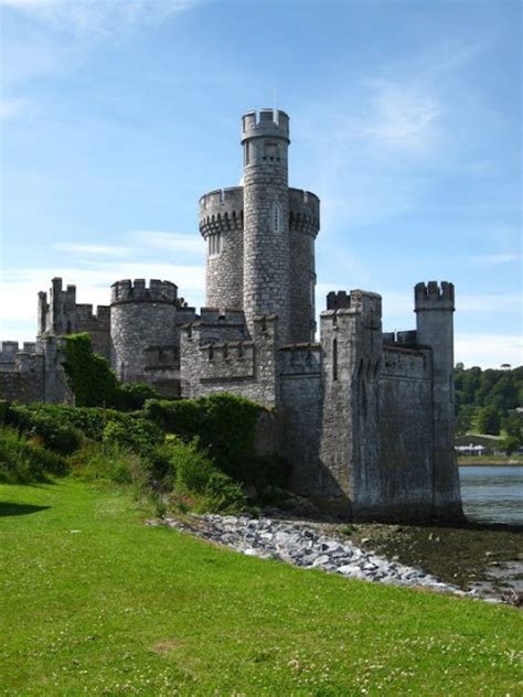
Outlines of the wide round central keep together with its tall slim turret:
[{"label": "wide round central keep together with its tall slim turret", "polygon": [[289,117],[248,111],[242,119],[244,186],[200,199],[200,232],[207,246],[206,304],[278,314],[282,343],[314,337],[314,239],[320,201],[289,189]]}]

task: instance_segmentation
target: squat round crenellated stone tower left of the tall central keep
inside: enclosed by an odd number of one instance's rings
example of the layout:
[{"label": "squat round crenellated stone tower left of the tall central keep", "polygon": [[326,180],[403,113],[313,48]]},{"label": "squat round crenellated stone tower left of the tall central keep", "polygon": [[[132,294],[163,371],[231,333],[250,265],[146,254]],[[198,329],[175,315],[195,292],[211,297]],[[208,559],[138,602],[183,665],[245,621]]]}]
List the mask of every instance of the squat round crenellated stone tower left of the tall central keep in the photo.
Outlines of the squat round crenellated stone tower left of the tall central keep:
[{"label": "squat round crenellated stone tower left of the tall central keep", "polygon": [[[111,365],[125,383],[151,383],[149,353],[175,344],[178,288],[170,281],[116,281],[110,287]],[[153,382],[153,380],[152,380]]]}]

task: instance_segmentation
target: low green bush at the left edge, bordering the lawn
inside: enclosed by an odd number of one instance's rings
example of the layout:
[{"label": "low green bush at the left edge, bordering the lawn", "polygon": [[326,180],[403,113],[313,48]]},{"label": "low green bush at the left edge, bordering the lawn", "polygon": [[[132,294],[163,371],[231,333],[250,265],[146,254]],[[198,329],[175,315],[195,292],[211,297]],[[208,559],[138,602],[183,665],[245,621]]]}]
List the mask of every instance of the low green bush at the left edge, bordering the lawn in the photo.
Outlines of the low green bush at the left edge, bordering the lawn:
[{"label": "low green bush at the left edge, bordering the lawn", "polygon": [[46,473],[65,474],[67,463],[61,455],[21,436],[14,428],[0,429],[0,481],[28,483],[46,481]]}]

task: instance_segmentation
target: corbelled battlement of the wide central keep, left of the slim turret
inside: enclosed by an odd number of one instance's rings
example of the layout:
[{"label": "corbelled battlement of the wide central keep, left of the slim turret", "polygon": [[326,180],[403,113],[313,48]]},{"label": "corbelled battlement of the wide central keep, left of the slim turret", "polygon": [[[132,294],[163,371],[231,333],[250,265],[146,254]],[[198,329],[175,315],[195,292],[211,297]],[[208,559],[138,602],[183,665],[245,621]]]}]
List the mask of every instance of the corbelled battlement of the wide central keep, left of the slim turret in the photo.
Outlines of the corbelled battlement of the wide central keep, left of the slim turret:
[{"label": "corbelled battlement of the wide central keep, left of the slim turret", "polygon": [[200,233],[206,237],[230,229],[243,229],[243,186],[218,189],[200,199]]}]

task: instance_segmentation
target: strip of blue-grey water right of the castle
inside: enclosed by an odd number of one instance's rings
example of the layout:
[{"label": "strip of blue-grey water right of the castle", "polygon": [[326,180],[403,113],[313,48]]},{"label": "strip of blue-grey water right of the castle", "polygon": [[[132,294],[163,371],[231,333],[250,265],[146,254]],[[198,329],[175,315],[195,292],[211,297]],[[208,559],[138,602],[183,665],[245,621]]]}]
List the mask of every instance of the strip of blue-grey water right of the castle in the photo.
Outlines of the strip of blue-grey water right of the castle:
[{"label": "strip of blue-grey water right of the castle", "polygon": [[459,468],[459,479],[470,521],[523,525],[523,467]]}]

